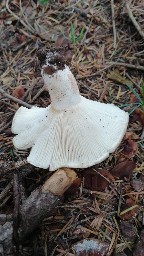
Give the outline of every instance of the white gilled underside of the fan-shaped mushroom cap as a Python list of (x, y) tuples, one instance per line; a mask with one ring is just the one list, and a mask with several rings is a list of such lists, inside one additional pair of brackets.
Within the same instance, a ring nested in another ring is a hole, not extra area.
[(105, 160), (120, 144), (128, 114), (112, 104), (81, 97), (66, 111), (20, 107), (12, 132), (18, 149), (31, 148), (30, 164), (54, 171), (60, 167), (86, 168)]

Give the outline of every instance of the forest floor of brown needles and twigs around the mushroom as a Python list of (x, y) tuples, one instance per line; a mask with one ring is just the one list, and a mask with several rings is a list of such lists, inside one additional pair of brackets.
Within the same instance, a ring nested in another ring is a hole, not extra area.
[[(13, 147), (11, 124), (21, 105), (50, 104), (37, 49), (68, 46), (81, 95), (115, 104), (129, 112), (130, 121), (109, 158), (75, 170), (78, 179), (65, 192), (63, 203), (20, 246), (18, 255), (143, 256), (143, 1), (127, 1), (127, 5), (122, 0), (44, 2), (0, 3), (0, 224), (13, 220), (14, 173), (26, 196), (51, 175), (26, 163), (29, 150)], [(99, 252), (92, 248), (74, 252), (76, 243), (93, 238)]]

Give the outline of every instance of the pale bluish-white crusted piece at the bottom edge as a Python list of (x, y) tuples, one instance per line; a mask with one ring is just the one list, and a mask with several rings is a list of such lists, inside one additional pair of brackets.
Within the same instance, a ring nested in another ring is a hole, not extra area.
[(73, 245), (72, 248), (77, 256), (105, 256), (109, 244), (97, 239), (84, 239)]

